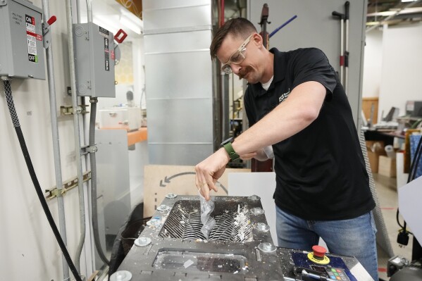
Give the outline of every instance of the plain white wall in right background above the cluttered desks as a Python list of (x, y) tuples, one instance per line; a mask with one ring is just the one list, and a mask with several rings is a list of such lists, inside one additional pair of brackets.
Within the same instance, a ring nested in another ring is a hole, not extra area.
[(363, 96), (379, 96), (381, 116), (406, 101), (422, 100), (422, 24), (385, 26), (366, 34)]

